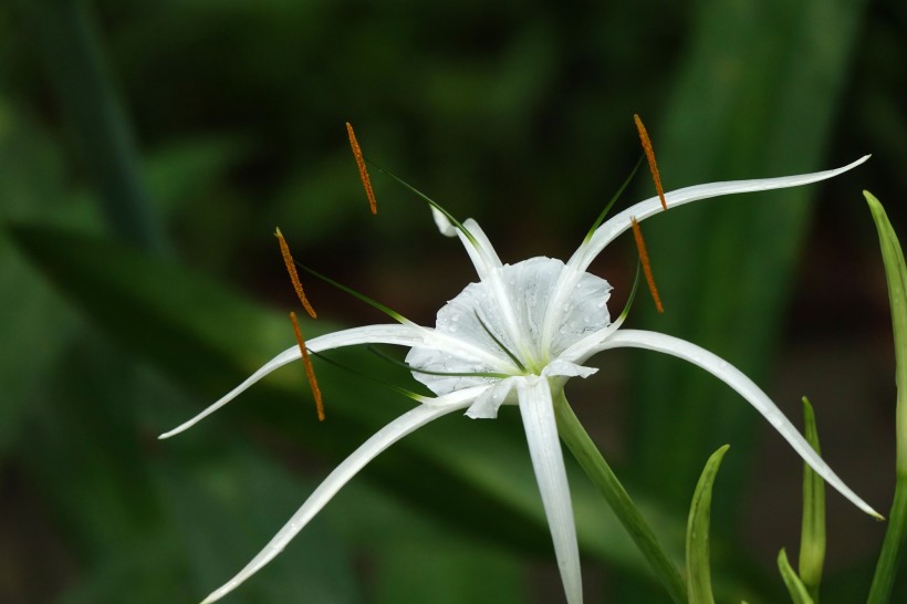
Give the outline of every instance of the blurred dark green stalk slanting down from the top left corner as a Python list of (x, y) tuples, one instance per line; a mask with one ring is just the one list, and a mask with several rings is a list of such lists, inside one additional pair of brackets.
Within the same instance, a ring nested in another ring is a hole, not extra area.
[(133, 244), (163, 251), (139, 177), (138, 154), (105, 69), (97, 31), (83, 0), (21, 0), (44, 55), (79, 158), (113, 231)]

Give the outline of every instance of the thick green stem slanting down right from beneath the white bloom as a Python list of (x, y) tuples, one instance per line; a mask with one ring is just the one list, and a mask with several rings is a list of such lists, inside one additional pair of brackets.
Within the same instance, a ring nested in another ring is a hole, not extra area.
[(665, 553), (651, 528), (636, 508), (624, 486), (602, 457), (583, 425), (576, 418), (563, 392), (554, 398), (557, 431), (573, 457), (605, 497), (617, 519), (629, 533), (658, 580), (677, 604), (687, 603), (687, 585), (677, 566)]

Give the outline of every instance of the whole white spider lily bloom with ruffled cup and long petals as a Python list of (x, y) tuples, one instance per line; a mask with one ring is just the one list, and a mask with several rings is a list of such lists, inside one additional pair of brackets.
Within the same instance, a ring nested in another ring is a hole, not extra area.
[[(868, 156), (867, 156), (868, 157)], [(867, 159), (835, 170), (801, 176), (697, 185), (666, 194), (667, 207), (720, 195), (795, 187), (837, 176)], [(736, 389), (790, 442), (825, 481), (861, 510), (878, 514), (832, 471), (772, 400), (747, 376), (697, 345), (669, 335), (618, 330), (623, 315), (612, 322), (607, 310), (611, 285), (586, 272), (593, 259), (616, 236), (663, 210), (658, 197), (618, 214), (590, 232), (566, 262), (531, 258), (504, 264), (475, 220), (462, 225), (432, 206), (440, 231), (459, 237), (479, 277), (448, 302), (435, 327), (424, 327), (389, 313), (398, 324), (353, 327), (314, 337), (312, 353), (356, 344), (396, 344), (410, 348), (406, 363), (413, 376), (435, 397), (405, 413), (365, 441), (337, 466), (264, 549), (222, 587), (205, 601), (213, 602), (246, 581), (278, 553), (366, 464), (384, 449), (444, 415), (466, 409), (472, 418), (493, 418), (501, 405), (517, 405), (555, 556), (571, 604), (583, 600), (580, 554), (570, 489), (554, 415), (571, 377), (588, 377), (595, 368), (583, 366), (592, 355), (616, 347), (648, 348), (678, 356), (702, 367)], [(222, 407), (272, 371), (301, 357), (292, 346), (252, 374), (197, 417), (161, 435), (173, 436)]]

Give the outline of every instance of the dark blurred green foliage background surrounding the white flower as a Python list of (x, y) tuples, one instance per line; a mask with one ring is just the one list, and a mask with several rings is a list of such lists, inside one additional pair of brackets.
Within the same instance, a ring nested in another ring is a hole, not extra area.
[[(825, 458), (884, 512), (894, 358), (861, 190), (905, 232), (905, 30), (895, 0), (0, 4), (0, 602), (197, 601), (410, 405), (315, 360), (323, 424), (291, 366), (155, 439), (293, 343), (274, 226), (299, 260), (419, 323), (475, 279), (380, 174), (371, 215), (347, 121), (366, 156), (479, 220), (504, 262), (572, 253), (640, 155), (634, 113), (667, 189), (874, 154), (819, 186), (646, 221), (667, 312), (640, 295), (629, 324), (727, 358), (796, 425), (809, 395)], [(643, 173), (618, 207), (653, 194)], [(615, 285), (613, 316), (635, 254), (625, 236), (592, 267)], [(307, 335), (385, 321), (309, 281)], [(366, 351), (336, 357), (415, 388)], [(594, 364), (567, 396), (678, 554), (702, 465), (731, 444), (712, 503), (718, 597), (782, 601), (799, 458), (687, 364)], [(587, 601), (667, 601), (573, 470)], [(864, 597), (883, 532), (830, 493), (823, 602)], [(562, 597), (510, 408), (387, 451), (227, 601)]]

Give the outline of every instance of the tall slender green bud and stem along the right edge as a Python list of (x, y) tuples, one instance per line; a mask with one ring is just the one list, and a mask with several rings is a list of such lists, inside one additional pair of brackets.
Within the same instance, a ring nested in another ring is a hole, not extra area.
[(897, 454), (895, 498), (888, 518), (888, 530), (876, 564), (868, 604), (884, 604), (890, 600), (898, 567), (898, 556), (907, 537), (907, 264), (895, 229), (885, 208), (869, 191), (863, 191), (878, 231), (885, 277), (888, 281), (888, 302), (892, 305), (892, 329), (895, 337), (895, 382), (897, 407), (895, 435)]

